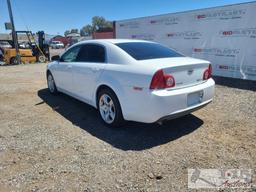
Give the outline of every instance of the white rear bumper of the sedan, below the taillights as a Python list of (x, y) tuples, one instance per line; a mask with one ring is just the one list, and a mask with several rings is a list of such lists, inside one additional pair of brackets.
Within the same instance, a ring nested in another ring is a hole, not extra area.
[[(153, 123), (184, 116), (209, 104), (214, 96), (214, 86), (213, 79), (209, 79), (202, 84), (177, 90), (130, 89), (127, 91), (126, 101), (121, 101), (124, 119)], [(189, 95), (199, 92), (202, 93), (200, 101), (188, 104)]]

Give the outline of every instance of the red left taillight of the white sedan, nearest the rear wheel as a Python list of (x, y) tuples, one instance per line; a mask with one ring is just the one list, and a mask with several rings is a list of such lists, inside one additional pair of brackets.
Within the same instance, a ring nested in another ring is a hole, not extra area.
[(175, 79), (172, 75), (164, 74), (164, 71), (158, 70), (150, 84), (150, 89), (165, 89), (175, 86)]

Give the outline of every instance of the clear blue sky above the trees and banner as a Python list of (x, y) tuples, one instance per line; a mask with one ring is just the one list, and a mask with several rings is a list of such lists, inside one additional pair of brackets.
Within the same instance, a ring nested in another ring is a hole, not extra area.
[[(249, 2), (248, 0), (11, 0), (16, 30), (63, 35), (91, 24), (93, 16), (110, 21)], [(7, 1), (0, 0), (0, 33), (9, 33)]]

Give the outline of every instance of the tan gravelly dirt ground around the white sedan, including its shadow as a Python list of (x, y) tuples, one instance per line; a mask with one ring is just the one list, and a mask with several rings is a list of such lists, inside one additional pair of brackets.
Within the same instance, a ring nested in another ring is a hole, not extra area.
[(188, 191), (188, 168), (255, 176), (255, 91), (217, 85), (191, 115), (111, 129), (94, 108), (49, 94), (45, 69), (0, 67), (0, 191)]

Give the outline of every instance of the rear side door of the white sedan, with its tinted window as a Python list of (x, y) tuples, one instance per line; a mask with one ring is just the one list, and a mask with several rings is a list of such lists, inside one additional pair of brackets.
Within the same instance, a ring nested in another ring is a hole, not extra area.
[(91, 103), (93, 92), (106, 65), (105, 47), (99, 44), (82, 45), (73, 65), (75, 94)]

